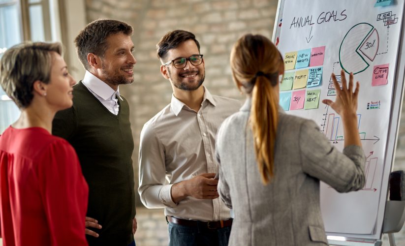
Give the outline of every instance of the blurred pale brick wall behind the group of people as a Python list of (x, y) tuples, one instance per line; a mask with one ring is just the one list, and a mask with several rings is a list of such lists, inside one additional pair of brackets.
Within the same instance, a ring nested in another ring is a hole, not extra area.
[[(156, 43), (167, 31), (184, 29), (193, 32), (204, 54), (206, 80), (213, 94), (242, 99), (235, 88), (229, 53), (233, 43), (246, 32), (271, 38), (277, 0), (86, 0), (87, 20), (111, 18), (134, 27), (135, 83), (120, 87), (130, 102), (135, 151), (135, 183), (139, 134), (142, 126), (170, 102), (170, 83), (159, 72)], [(405, 169), (405, 114), (401, 118), (395, 170)], [(140, 205), (139, 198), (137, 204)], [(161, 210), (138, 209), (138, 246), (167, 244), (167, 230)], [(156, 222), (158, 221), (158, 222)], [(163, 224), (163, 227), (161, 226)], [(404, 230), (396, 237), (405, 245)], [(384, 245), (388, 245), (385, 240)]]

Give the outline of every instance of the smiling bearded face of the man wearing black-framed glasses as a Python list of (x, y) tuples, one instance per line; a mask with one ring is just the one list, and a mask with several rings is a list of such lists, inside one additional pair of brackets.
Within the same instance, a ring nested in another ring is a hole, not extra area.
[[(177, 48), (169, 50), (162, 62), (166, 63), (178, 58), (189, 58), (199, 54), (197, 45), (192, 39), (189, 39), (181, 43)], [(200, 88), (205, 79), (204, 59), (197, 66), (187, 61), (186, 66), (181, 69), (174, 67), (173, 62), (171, 62), (168, 65), (162, 65), (160, 71), (163, 77), (170, 80), (173, 90), (195, 91)]]

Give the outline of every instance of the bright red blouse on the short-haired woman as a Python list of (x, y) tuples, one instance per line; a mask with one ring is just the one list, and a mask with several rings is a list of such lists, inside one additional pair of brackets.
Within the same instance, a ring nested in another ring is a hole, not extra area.
[(89, 188), (73, 147), (40, 127), (0, 136), (3, 246), (82, 246)]

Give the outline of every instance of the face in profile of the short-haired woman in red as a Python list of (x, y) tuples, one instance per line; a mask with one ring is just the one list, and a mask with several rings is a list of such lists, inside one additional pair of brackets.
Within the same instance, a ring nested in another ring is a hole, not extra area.
[(63, 110), (73, 105), (73, 88), (76, 81), (67, 71), (66, 63), (61, 55), (52, 52), (52, 67), (49, 83), (46, 84), (46, 101), (55, 108)]

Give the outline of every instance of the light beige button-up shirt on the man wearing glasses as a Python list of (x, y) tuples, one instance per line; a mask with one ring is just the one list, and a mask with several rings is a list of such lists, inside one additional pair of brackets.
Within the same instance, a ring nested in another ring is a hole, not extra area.
[(204, 89), (198, 112), (173, 95), (171, 103), (145, 123), (139, 148), (138, 192), (147, 208), (165, 208), (165, 215), (216, 221), (230, 217), (219, 198), (189, 196), (176, 204), (170, 193), (173, 184), (218, 172), (214, 149), (218, 127), (241, 106), (238, 100), (211, 95)]

